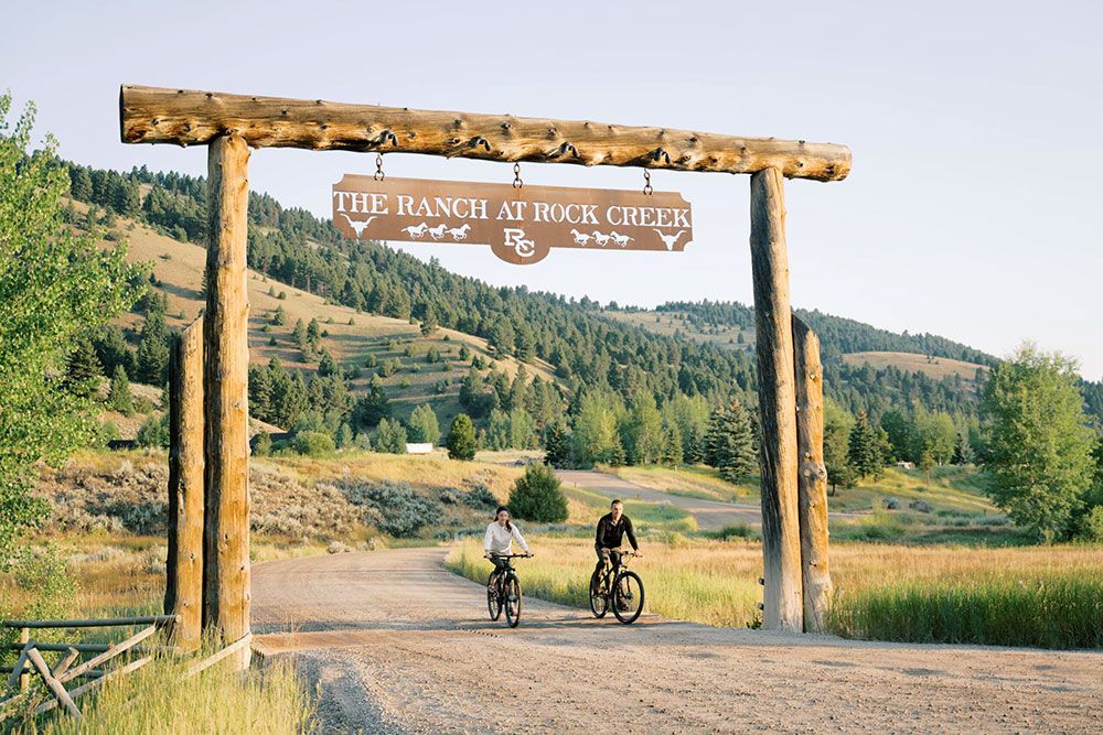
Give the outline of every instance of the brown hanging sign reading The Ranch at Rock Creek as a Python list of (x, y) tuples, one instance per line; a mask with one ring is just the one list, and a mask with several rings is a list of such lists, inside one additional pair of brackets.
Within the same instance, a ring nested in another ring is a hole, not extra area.
[(676, 192), (478, 184), (345, 174), (333, 185), (333, 224), (349, 238), (489, 245), (527, 264), (552, 248), (682, 251), (689, 204)]

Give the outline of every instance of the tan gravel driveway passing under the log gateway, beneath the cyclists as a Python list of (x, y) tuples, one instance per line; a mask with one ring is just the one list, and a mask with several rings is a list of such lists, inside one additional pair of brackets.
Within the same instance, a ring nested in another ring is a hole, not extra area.
[(258, 646), (298, 651), (328, 732), (1099, 732), (1103, 716), (1103, 653), (625, 627), (528, 597), (510, 630), (446, 553), (254, 568)]

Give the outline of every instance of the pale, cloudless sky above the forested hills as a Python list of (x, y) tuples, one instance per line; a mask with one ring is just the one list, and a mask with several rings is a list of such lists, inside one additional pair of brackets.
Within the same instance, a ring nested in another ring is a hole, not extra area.
[[(850, 176), (786, 186), (792, 296), (1103, 378), (1103, 3), (19, 2), (0, 89), (96, 166), (203, 175), (203, 150), (119, 142), (144, 84), (846, 143)], [(393, 176), (508, 182), (508, 164), (389, 154)], [(374, 154), (256, 151), (254, 188), (330, 216)], [(523, 164), (526, 183), (639, 188), (641, 171)], [(658, 171), (694, 207), (684, 253), (401, 246), (494, 284), (653, 306), (751, 302), (747, 176)]]

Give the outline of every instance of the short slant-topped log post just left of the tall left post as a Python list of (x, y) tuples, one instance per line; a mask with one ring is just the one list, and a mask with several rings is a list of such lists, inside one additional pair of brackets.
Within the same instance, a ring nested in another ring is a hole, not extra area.
[(185, 651), (203, 637), (203, 317), (173, 338), (169, 359), (169, 564), (164, 613)]

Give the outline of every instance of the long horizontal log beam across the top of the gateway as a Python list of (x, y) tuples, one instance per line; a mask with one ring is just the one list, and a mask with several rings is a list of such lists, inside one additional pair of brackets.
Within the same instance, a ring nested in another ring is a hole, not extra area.
[(137, 85), (119, 93), (119, 122), (125, 143), (202, 145), (228, 134), (253, 148), (720, 173), (778, 169), (816, 181), (840, 181), (850, 172), (850, 149), (835, 143)]

